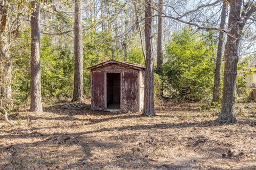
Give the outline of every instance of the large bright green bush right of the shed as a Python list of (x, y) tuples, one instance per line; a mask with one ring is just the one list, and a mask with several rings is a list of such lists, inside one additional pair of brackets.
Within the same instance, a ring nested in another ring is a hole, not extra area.
[(173, 33), (165, 50), (163, 74), (172, 98), (209, 99), (214, 79), (215, 40), (209, 32), (190, 28)]

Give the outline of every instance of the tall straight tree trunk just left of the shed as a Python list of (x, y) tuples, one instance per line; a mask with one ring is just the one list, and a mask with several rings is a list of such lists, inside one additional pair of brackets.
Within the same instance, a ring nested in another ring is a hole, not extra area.
[(75, 74), (73, 101), (83, 102), (83, 25), (82, 25), (82, 0), (75, 0)]

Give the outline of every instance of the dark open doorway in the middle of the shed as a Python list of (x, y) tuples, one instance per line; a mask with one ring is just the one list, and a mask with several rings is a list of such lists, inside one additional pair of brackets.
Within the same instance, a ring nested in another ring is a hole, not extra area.
[(121, 73), (107, 73), (107, 109), (120, 109)]

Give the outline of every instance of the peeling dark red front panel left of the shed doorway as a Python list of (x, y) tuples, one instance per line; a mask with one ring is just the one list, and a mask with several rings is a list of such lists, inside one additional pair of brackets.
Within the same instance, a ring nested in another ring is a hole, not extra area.
[(105, 108), (105, 73), (92, 72), (92, 109), (104, 111)]

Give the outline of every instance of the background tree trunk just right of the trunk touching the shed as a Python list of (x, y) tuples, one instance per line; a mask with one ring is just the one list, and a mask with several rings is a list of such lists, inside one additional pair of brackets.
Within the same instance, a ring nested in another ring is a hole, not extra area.
[(158, 0), (158, 25), (157, 25), (157, 60), (156, 69), (161, 71), (163, 64), (163, 39), (164, 39), (164, 18), (162, 13), (164, 12), (163, 0)]

